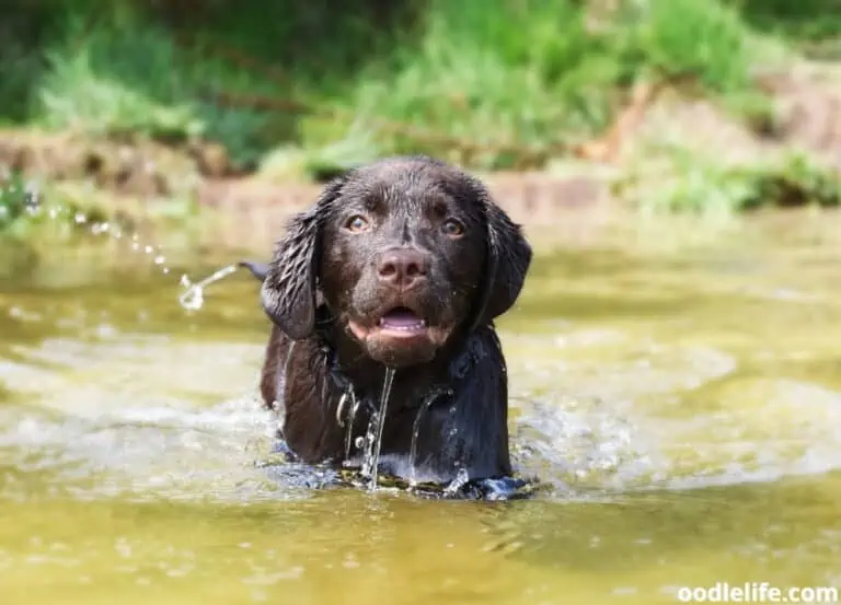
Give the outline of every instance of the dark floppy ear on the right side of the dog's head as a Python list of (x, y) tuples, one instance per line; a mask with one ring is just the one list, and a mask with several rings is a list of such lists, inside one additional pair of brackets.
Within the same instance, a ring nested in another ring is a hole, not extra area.
[(521, 226), (512, 222), (484, 190), (481, 202), (487, 230), (487, 257), (473, 328), (489, 324), (514, 305), (532, 256)]

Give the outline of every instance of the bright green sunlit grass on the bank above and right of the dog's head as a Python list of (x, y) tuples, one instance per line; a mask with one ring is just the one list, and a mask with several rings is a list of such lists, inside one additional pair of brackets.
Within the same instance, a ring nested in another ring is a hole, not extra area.
[[(691, 74), (716, 94), (751, 95), (750, 67), (769, 46), (735, 10), (699, 0), (652, 0), (610, 15), (600, 32), (573, 0), (439, 0), (425, 25), (416, 47), (369, 66), (337, 100), (344, 119), (304, 117), (306, 139), (324, 143), (339, 126), (356, 127), (376, 133), (380, 153), (424, 151), (491, 168), (540, 162), (601, 132), (640, 78)], [(477, 146), (401, 136), (384, 120)]]

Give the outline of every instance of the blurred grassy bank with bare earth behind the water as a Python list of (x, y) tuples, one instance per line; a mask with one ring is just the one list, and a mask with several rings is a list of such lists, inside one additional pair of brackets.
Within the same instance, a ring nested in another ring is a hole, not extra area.
[(170, 213), (415, 152), (654, 211), (839, 202), (839, 0), (10, 0), (0, 36), (7, 181)]

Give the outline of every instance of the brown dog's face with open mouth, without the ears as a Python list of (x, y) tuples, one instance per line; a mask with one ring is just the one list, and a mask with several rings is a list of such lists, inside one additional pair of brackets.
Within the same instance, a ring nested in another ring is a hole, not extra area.
[(454, 173), (361, 168), (342, 187), (322, 237), (324, 298), (370, 358), (395, 368), (429, 361), (470, 315), (485, 225)]

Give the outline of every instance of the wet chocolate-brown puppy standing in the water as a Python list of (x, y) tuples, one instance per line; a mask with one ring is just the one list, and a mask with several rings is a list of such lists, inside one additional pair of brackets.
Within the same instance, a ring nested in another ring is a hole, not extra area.
[(393, 369), (381, 473), (443, 486), (510, 477), (494, 319), (531, 258), (521, 225), (445, 162), (391, 158), (327, 183), (268, 265), (243, 263), (273, 323), (261, 394), (291, 453), (358, 463)]

